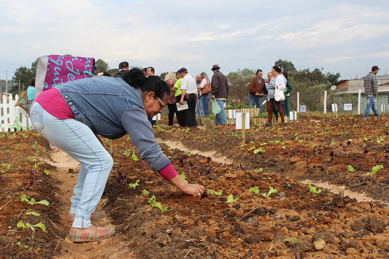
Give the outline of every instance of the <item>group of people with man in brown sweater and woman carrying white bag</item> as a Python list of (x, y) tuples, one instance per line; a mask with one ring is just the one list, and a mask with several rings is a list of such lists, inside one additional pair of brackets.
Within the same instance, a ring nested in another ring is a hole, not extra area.
[[(268, 80), (265, 81), (263, 78), (263, 71), (258, 69), (256, 76), (253, 77), (249, 84), (249, 106), (256, 106), (259, 108), (259, 113), (263, 112), (263, 101), (262, 97), (267, 94), (267, 105), (268, 105), (268, 121), (265, 126), (272, 125), (273, 112), (279, 113), (281, 122), (285, 123), (284, 114), (289, 119), (289, 98), (290, 92), (293, 87), (288, 80), (288, 74), (280, 66), (273, 66), (272, 72), (267, 74)], [(280, 89), (284, 93), (285, 100), (276, 101), (274, 98), (275, 89)]]

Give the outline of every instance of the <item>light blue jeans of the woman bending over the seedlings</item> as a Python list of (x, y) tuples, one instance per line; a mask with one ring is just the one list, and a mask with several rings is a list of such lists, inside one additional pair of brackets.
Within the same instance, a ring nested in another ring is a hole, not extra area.
[(37, 102), (31, 107), (31, 121), (40, 135), (81, 163), (70, 213), (75, 214), (74, 228), (88, 228), (114, 165), (112, 157), (85, 124), (57, 119)]

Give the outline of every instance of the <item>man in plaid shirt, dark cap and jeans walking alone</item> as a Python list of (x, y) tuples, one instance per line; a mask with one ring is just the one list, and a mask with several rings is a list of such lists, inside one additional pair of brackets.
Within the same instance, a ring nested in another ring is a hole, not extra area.
[(371, 110), (373, 110), (374, 116), (380, 116), (377, 112), (377, 109), (375, 108), (375, 98), (377, 98), (378, 95), (378, 78), (376, 75), (379, 69), (380, 68), (378, 68), (378, 66), (373, 66), (371, 68), (371, 72), (364, 77), (364, 94), (367, 97), (364, 119), (367, 119), (369, 117), (370, 108)]

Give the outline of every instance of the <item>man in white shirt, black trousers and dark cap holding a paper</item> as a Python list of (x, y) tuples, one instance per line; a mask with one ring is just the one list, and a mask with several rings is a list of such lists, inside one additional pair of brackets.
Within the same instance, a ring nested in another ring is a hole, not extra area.
[[(177, 71), (182, 77), (181, 81), (181, 99), (180, 104), (184, 105), (186, 101), (188, 108), (184, 110), (184, 117), (187, 127), (197, 127), (196, 121), (196, 80), (188, 73), (186, 68)], [(178, 99), (177, 99), (178, 100)]]

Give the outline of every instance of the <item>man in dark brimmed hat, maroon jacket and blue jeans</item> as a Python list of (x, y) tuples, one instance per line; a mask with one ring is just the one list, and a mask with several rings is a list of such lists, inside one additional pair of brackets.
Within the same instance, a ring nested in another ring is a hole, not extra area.
[(226, 113), (224, 112), (224, 103), (228, 96), (228, 82), (227, 77), (219, 71), (220, 67), (218, 65), (212, 66), (212, 100), (216, 99), (217, 103), (221, 108), (221, 112), (216, 114), (215, 123), (218, 125), (227, 124)]

